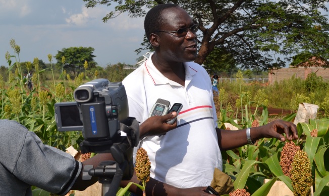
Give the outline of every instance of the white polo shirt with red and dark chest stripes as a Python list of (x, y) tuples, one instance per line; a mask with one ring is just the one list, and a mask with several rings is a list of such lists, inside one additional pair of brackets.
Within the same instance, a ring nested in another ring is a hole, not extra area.
[(183, 104), (176, 129), (141, 141), (151, 161), (150, 176), (175, 187), (207, 186), (214, 168), (222, 170), (209, 75), (199, 64), (185, 66), (185, 87), (163, 76), (149, 59), (124, 80), (129, 116), (144, 122), (157, 99)]

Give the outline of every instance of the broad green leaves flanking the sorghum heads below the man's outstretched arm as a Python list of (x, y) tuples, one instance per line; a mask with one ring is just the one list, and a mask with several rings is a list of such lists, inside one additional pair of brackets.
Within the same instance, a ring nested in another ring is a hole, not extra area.
[[(308, 155), (312, 166), (314, 195), (323, 195), (328, 190), (329, 119), (310, 120), (297, 125), (300, 139), (294, 141)], [(317, 136), (310, 132), (317, 130)], [(234, 180), (235, 188), (245, 188), (252, 195), (266, 195), (276, 180), (283, 181), (292, 191), (292, 180), (283, 174), (280, 152), (283, 143), (275, 138), (261, 139), (256, 145), (246, 145), (223, 153), (223, 171)], [(264, 183), (264, 178), (271, 179)]]

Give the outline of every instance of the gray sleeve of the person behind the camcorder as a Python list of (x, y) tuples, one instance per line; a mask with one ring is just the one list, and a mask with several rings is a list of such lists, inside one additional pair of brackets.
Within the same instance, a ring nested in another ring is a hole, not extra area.
[[(13, 158), (16, 160), (10, 161), (14, 164), (5, 166), (27, 184), (52, 193), (66, 194), (81, 172), (81, 162), (62, 150), (44, 145), (35, 133), (28, 131), (24, 126), (12, 121), (9, 124), (11, 126), (7, 131), (14, 132), (12, 136), (17, 134), (19, 144), (13, 152), (17, 153)], [(6, 142), (15, 144), (16, 138), (8, 138)], [(7, 151), (9, 152), (11, 149)]]

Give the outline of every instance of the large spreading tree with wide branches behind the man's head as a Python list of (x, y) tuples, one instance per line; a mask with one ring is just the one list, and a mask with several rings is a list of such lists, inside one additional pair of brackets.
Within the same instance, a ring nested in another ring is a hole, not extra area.
[[(130, 17), (143, 17), (156, 4), (178, 4), (199, 24), (199, 51), (195, 60), (199, 64), (215, 47), (234, 55), (241, 68), (258, 70), (284, 67), (286, 61), (301, 51), (329, 59), (329, 25), (320, 13), (327, 11), (328, 0), (83, 1), (87, 2), (87, 8), (118, 4), (103, 22), (123, 12)], [(142, 46), (136, 51), (150, 48), (145, 43)], [(328, 65), (326, 61), (323, 66)]]

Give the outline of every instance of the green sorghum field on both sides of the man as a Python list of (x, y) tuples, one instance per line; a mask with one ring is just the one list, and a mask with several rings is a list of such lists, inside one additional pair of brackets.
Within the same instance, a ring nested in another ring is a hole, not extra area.
[[(50, 61), (51, 62), (51, 61)], [(65, 151), (69, 146), (79, 149), (83, 140), (81, 132), (58, 132), (54, 119), (54, 104), (74, 101), (74, 89), (90, 80), (86, 72), (81, 72), (71, 80), (64, 70), (55, 78), (53, 70), (39, 70), (33, 62), (33, 88), (29, 90), (23, 80), (20, 63), (11, 64), (7, 80), (0, 75), (0, 119), (11, 119), (35, 132), (47, 145)], [(11, 71), (13, 70), (13, 71)], [(87, 66), (86, 66), (87, 70)], [(42, 82), (40, 77), (47, 72), (52, 80)], [(93, 77), (96, 78), (96, 74)], [(314, 76), (313, 76), (314, 77)], [(272, 119), (267, 107), (291, 110), (291, 114), (281, 116), (293, 121), (299, 103), (319, 105), (318, 117), (297, 125), (299, 139), (293, 143), (283, 143), (277, 139), (261, 139), (255, 145), (245, 145), (235, 150), (222, 152), (224, 172), (231, 176), (235, 189), (245, 189), (251, 195), (266, 195), (275, 182), (282, 181), (295, 195), (309, 195), (310, 187), (314, 195), (329, 194), (329, 93), (327, 84), (307, 88), (297, 78), (272, 86), (243, 83), (239, 71), (234, 83), (220, 83), (220, 95), (214, 97), (218, 125), (227, 129), (227, 124), (243, 129), (267, 124)], [(316, 76), (315, 76), (315, 79)], [(321, 83), (322, 84), (322, 83)], [(258, 87), (257, 87), (258, 86)], [(289, 86), (289, 87), (288, 87)], [(287, 91), (283, 91), (283, 90)], [(295, 90), (295, 91), (294, 91)], [(299, 93), (297, 93), (299, 92)], [(287, 94), (289, 101), (285, 99)], [(261, 113), (259, 112), (261, 108)], [(252, 109), (252, 110), (251, 110)], [(297, 149), (297, 150), (296, 150)], [(292, 157), (298, 158), (292, 158)], [(288, 158), (287, 158), (288, 157)], [(290, 158), (289, 158), (290, 157)], [(290, 162), (289, 162), (290, 161)], [(291, 168), (287, 168), (291, 165)], [(296, 166), (294, 166), (296, 165)], [(299, 167), (303, 165), (303, 170)], [(264, 183), (265, 179), (269, 179)], [(303, 181), (300, 181), (304, 179)], [(306, 193), (306, 194), (304, 194)]]

